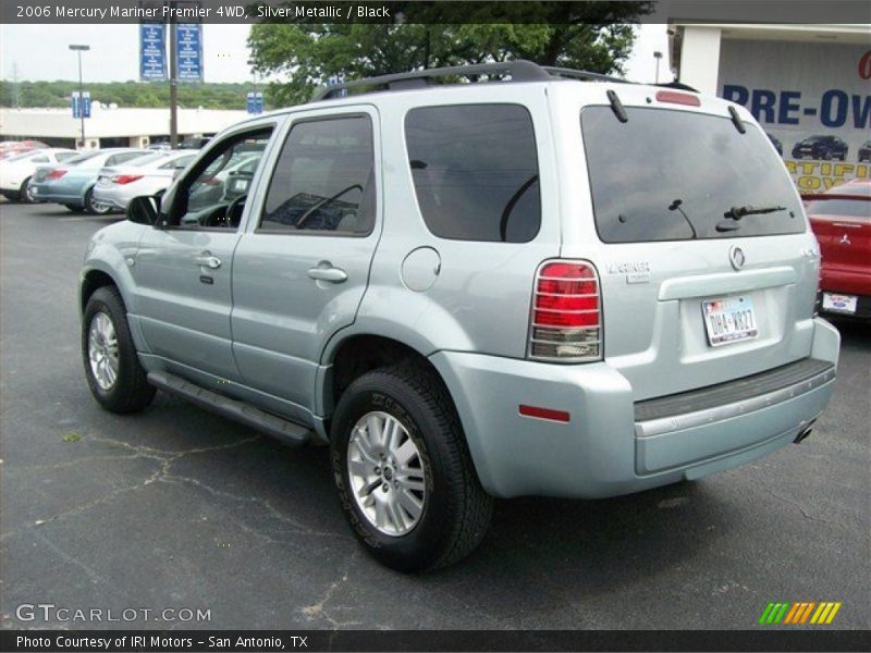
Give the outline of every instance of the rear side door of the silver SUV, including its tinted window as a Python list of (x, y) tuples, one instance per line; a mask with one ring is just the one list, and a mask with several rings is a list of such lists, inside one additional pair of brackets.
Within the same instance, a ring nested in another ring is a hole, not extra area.
[(292, 114), (233, 259), (242, 377), (305, 411), (314, 410), (321, 352), (354, 321), (368, 283), (380, 231), (379, 143), (369, 106)]

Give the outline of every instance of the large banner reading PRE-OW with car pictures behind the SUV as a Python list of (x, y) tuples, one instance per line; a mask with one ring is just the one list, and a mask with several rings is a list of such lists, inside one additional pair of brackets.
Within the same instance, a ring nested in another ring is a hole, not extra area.
[(871, 49), (867, 45), (724, 38), (723, 98), (768, 133), (801, 193), (871, 176)]

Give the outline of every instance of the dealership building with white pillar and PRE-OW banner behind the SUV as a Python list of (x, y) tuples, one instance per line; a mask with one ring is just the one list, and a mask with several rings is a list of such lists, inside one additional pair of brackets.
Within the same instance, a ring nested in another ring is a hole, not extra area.
[(801, 192), (871, 176), (871, 25), (670, 20), (677, 81), (746, 107)]

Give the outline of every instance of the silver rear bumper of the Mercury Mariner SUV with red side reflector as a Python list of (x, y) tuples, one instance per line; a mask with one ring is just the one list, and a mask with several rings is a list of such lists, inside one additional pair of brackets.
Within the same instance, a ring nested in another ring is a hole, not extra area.
[[(431, 360), (488, 492), (592, 498), (700, 478), (794, 442), (832, 396), (838, 343), (837, 331), (817, 319), (805, 361), (637, 404), (628, 380), (604, 362), (455, 352)], [(569, 421), (520, 416), (520, 404), (566, 411)]]

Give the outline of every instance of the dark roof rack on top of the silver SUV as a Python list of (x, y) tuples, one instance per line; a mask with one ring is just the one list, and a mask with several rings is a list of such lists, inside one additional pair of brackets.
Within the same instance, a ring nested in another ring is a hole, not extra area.
[(408, 88), (420, 88), (429, 84), (430, 79), (437, 77), (475, 77), (479, 75), (510, 75), (511, 82), (547, 82), (554, 77), (571, 77), (587, 82), (618, 82), (628, 84), (625, 79), (610, 77), (601, 73), (589, 71), (576, 71), (574, 69), (542, 66), (525, 59), (514, 61), (501, 61), (496, 63), (478, 63), (474, 65), (453, 65), (447, 67), (426, 69), (413, 71), (410, 73), (396, 73), (392, 75), (379, 75), (377, 77), (366, 77), (365, 79), (354, 79), (331, 86), (320, 86), (311, 96), (310, 102), (328, 100), (335, 97), (343, 90), (349, 88), (369, 87), (364, 93), (378, 90), (404, 90)]

